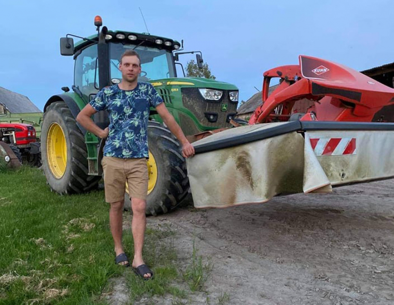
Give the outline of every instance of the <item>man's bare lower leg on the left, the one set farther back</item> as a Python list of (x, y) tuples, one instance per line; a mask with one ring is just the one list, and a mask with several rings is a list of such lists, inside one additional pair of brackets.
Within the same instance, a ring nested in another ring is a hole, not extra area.
[[(109, 225), (111, 228), (112, 237), (114, 239), (116, 256), (124, 253), (122, 245), (122, 231), (123, 231), (123, 200), (115, 203), (110, 203), (109, 208)], [(120, 262), (120, 265), (127, 265), (129, 262)]]

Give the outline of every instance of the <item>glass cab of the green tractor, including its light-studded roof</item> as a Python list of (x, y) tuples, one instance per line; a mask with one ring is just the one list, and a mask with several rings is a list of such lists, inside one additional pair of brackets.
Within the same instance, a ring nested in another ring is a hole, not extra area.
[[(135, 50), (141, 58), (139, 81), (176, 77), (172, 51), (179, 49), (180, 44), (171, 39), (124, 31), (107, 32), (105, 44), (101, 47), (106, 54), (101, 56), (98, 54), (100, 46), (97, 35), (87, 39), (78, 42), (74, 48), (73, 87), (74, 91), (80, 91), (86, 102), (100, 88), (120, 83), (119, 60), (126, 50)], [(100, 79), (103, 84), (100, 84)]]

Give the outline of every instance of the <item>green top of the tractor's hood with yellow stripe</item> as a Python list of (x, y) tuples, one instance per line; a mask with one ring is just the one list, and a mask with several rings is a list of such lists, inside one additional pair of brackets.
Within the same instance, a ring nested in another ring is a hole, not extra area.
[(151, 80), (150, 82), (154, 86), (179, 85), (179, 86), (196, 87), (196, 88), (238, 90), (238, 88), (232, 84), (220, 82), (214, 79), (203, 78), (203, 77), (172, 77), (172, 78)]

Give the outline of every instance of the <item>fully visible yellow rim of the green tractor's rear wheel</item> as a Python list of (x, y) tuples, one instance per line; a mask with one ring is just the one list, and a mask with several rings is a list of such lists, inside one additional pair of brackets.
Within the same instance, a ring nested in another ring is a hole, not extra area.
[(46, 137), (46, 153), (49, 169), (55, 178), (60, 179), (66, 172), (67, 143), (65, 133), (58, 123), (49, 126)]

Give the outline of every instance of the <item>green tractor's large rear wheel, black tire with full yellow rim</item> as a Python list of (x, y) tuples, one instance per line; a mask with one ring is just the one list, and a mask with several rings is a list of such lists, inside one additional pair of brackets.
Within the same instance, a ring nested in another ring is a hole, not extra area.
[[(56, 150), (58, 141), (64, 144)], [(62, 147), (63, 154), (59, 153)], [(78, 194), (97, 188), (101, 176), (88, 175), (87, 158), (85, 138), (70, 109), (63, 101), (53, 102), (41, 127), (42, 168), (51, 189), (59, 194)]]

